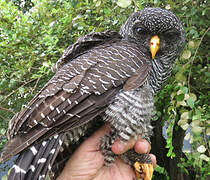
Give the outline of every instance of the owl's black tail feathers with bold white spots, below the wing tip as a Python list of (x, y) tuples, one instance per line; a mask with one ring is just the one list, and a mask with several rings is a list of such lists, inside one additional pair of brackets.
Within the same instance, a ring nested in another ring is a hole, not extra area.
[(43, 180), (60, 150), (64, 134), (55, 135), (21, 152), (8, 180)]

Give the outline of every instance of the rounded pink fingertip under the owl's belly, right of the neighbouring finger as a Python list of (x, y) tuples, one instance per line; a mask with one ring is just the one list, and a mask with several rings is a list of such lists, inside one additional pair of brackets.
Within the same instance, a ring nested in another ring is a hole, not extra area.
[(146, 139), (138, 139), (134, 145), (134, 149), (139, 154), (149, 153), (151, 145)]

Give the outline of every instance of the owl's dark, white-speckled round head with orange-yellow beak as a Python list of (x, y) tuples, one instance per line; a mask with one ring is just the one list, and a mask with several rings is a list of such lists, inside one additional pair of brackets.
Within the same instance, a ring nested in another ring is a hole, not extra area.
[(171, 11), (160, 8), (133, 13), (122, 25), (120, 34), (152, 59), (174, 60), (185, 43), (180, 20)]

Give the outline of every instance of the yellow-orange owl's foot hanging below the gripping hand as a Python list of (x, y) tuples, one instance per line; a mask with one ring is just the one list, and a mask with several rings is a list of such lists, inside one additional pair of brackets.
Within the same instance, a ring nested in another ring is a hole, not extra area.
[(154, 171), (152, 164), (142, 164), (139, 162), (135, 162), (133, 166), (135, 169), (137, 179), (141, 179), (142, 175), (144, 176), (144, 180), (152, 179), (152, 174)]

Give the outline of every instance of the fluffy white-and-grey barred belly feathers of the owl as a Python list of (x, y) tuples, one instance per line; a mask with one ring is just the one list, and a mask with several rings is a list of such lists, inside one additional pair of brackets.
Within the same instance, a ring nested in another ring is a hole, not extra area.
[(141, 135), (149, 138), (154, 107), (153, 94), (148, 85), (137, 90), (120, 91), (105, 111), (105, 120), (123, 140)]

